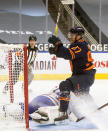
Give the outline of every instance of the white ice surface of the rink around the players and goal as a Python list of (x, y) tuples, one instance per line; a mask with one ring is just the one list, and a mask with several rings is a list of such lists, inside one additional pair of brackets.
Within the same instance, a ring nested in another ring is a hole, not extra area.
[[(54, 86), (59, 85), (60, 81), (33, 81), (29, 87), (29, 101), (31, 101), (35, 96), (40, 95), (40, 94), (45, 94), (48, 93)], [(2, 92), (3, 86), (5, 83), (0, 82), (0, 94)], [(21, 83), (19, 83), (21, 85)], [(17, 85), (15, 87), (15, 90), (20, 90), (17, 88)], [(96, 80), (94, 85), (91, 87), (90, 91), (91, 95), (93, 96), (95, 102), (97, 103), (98, 106), (108, 102), (108, 80)], [(8, 99), (7, 96), (1, 95), (1, 102), (4, 103), (4, 99)], [(17, 99), (17, 97), (15, 98)], [(106, 117), (108, 115), (108, 108), (105, 110), (105, 115), (98, 115), (96, 116), (98, 119), (102, 118), (103, 124), (107, 123)], [(108, 117), (107, 117), (108, 118)], [(37, 131), (37, 130), (98, 130), (97, 126), (89, 121), (89, 120), (82, 120), (79, 123), (71, 122), (69, 125), (60, 125), (60, 126), (55, 126), (55, 125), (50, 125), (50, 126), (40, 126), (37, 125), (35, 122), (30, 121), (30, 130), (29, 131)], [(101, 131), (102, 129), (99, 129)], [(15, 124), (15, 122), (0, 122), (0, 131), (26, 131), (26, 129), (22, 126), (21, 128)]]

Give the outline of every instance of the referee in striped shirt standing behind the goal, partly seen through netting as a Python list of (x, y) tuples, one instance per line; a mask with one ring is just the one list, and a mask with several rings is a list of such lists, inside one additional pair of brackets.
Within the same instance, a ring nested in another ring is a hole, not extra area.
[[(29, 37), (29, 44), (27, 46), (27, 64), (28, 64), (28, 85), (32, 82), (34, 75), (32, 72), (33, 64), (37, 55), (37, 47), (36, 45), (37, 38), (34, 35), (31, 35)], [(18, 81), (20, 72), (22, 70), (22, 64), (23, 64), (23, 50), (22, 49), (15, 49), (15, 62), (13, 65), (13, 85), (16, 84)], [(6, 93), (8, 91), (9, 82), (6, 83), (3, 93)]]

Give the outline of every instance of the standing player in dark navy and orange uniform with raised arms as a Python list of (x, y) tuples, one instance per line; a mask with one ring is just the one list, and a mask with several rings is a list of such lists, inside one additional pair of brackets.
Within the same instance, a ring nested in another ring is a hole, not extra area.
[(94, 83), (95, 79), (96, 70), (94, 69), (90, 47), (83, 40), (84, 29), (82, 27), (75, 27), (70, 29), (69, 33), (71, 41), (69, 48), (65, 48), (61, 40), (54, 35), (48, 39), (48, 42), (54, 45), (54, 47), (49, 48), (49, 53), (70, 60), (72, 67), (72, 76), (59, 84), (61, 92), (60, 116), (55, 119), (55, 122), (62, 122), (68, 119), (67, 109), (70, 101), (70, 92), (72, 91), (76, 97), (82, 96), (83, 98), (85, 96), (84, 99), (90, 98), (90, 86)]

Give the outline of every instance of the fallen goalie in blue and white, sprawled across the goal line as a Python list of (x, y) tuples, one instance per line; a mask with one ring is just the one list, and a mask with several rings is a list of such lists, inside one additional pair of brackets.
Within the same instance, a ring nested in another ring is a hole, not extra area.
[[(49, 93), (42, 94), (33, 98), (33, 100), (29, 103), (28, 106), (29, 119), (31, 120), (33, 118), (38, 123), (45, 121), (48, 118), (48, 115), (46, 115), (45, 107), (59, 106), (59, 96), (60, 96), (60, 90), (56, 86)], [(43, 107), (43, 111), (40, 111), (39, 109), (42, 107)], [(10, 117), (15, 118), (16, 120), (21, 118), (20, 115), (22, 116), (22, 118), (24, 115), (24, 103), (22, 102), (10, 104), (10, 105), (9, 104), (3, 105), (2, 108), (0, 107), (0, 109), (1, 109), (0, 111), (3, 112), (0, 113), (0, 115), (1, 114), (5, 114), (5, 116), (10, 115)]]

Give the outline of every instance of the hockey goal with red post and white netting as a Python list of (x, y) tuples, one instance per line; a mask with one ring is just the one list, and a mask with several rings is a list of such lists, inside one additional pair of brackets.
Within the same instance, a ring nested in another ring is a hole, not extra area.
[[(29, 127), (27, 47), (0, 44), (0, 122)], [(19, 124), (20, 125), (20, 124)]]

